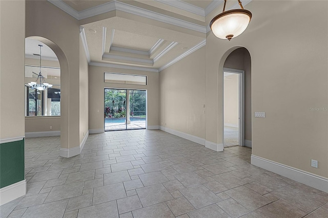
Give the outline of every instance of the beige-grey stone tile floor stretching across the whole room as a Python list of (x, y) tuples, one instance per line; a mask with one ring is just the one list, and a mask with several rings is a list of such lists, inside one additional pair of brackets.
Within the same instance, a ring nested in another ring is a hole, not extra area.
[(59, 137), (26, 139), (27, 194), (1, 217), (328, 217), (328, 193), (161, 130), (90, 135), (59, 157)]

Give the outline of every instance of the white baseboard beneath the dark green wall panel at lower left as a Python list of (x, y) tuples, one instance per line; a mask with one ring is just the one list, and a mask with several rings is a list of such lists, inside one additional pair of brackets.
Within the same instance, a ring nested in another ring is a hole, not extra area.
[(26, 180), (16, 182), (0, 189), (0, 205), (22, 197), (26, 194)]

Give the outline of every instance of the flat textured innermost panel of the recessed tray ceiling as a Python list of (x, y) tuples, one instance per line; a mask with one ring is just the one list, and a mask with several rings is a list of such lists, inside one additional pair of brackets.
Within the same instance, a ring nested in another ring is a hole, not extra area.
[(148, 52), (158, 39), (159, 38), (115, 30), (112, 46)]

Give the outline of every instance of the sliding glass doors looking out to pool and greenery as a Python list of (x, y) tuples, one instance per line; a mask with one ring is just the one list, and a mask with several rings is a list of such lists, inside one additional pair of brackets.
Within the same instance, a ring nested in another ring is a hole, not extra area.
[(145, 129), (147, 91), (105, 89), (105, 131)]

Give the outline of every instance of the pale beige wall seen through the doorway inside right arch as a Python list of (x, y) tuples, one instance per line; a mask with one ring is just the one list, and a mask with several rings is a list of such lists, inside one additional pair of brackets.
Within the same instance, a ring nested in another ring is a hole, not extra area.
[(224, 125), (239, 127), (239, 75), (224, 79)]

